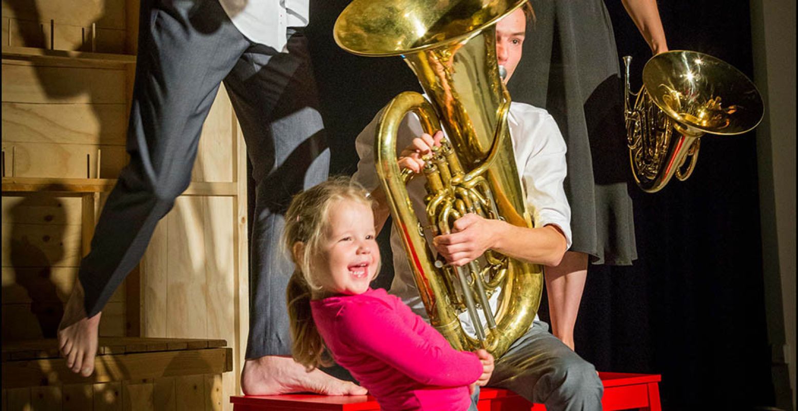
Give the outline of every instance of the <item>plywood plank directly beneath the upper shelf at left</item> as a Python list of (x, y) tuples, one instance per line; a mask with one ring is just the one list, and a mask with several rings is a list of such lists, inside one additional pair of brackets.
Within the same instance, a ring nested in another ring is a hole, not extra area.
[(2, 101), (125, 104), (124, 70), (2, 64)]

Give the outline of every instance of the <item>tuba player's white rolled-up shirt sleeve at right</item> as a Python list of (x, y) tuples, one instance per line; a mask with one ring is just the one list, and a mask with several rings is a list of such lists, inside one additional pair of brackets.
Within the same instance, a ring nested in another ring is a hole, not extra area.
[(516, 144), (516, 150), (522, 153), (516, 158), (526, 158), (520, 174), (535, 227), (556, 225), (565, 235), (570, 249), (571, 206), (563, 188), (567, 174), (567, 149), (554, 118), (540, 111), (542, 113), (534, 114), (539, 116), (539, 121), (523, 122), (523, 127), (520, 127), (523, 135), (517, 136), (520, 144)]

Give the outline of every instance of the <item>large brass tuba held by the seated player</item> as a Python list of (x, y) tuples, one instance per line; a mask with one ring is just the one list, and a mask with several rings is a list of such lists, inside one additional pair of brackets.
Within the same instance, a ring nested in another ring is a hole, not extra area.
[[(449, 233), (465, 213), (532, 226), (507, 126), (510, 97), (496, 62), (495, 23), (525, 1), (354, 0), (334, 27), (336, 42), (350, 53), (401, 55), (429, 97), (405, 92), (381, 112), (377, 174), (431, 324), (455, 349), (484, 348), (496, 356), (531, 325), (543, 290), (543, 268), (489, 250), (455, 269), (436, 259), (426, 238)], [(409, 112), (417, 114), (425, 132), (445, 130), (448, 138), (427, 158), (429, 224), (424, 227), (407, 191), (412, 176), (397, 166), (397, 127)], [(494, 293), (500, 293), (496, 313), (488, 304)], [(475, 335), (460, 325), (458, 315), (464, 311), (476, 326)]]

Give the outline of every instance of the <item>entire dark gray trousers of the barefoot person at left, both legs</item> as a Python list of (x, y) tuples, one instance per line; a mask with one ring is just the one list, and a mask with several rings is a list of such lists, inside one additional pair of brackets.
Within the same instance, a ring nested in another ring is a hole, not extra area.
[[(306, 38), (287, 52), (250, 42), (217, 0), (143, 0), (128, 125), (130, 163), (97, 221), (79, 278), (89, 316), (138, 264), (161, 217), (191, 182), (199, 134), (224, 82), (255, 178), (247, 358), (290, 354), (279, 247), (290, 197), (326, 179), (330, 154)], [(250, 193), (250, 195), (252, 195)]]

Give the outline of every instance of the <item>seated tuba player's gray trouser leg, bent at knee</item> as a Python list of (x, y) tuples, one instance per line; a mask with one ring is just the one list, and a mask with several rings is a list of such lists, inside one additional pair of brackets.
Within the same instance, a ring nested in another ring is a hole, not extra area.
[(509, 389), (551, 411), (599, 410), (604, 392), (593, 365), (541, 321), (496, 361), (488, 386)]

